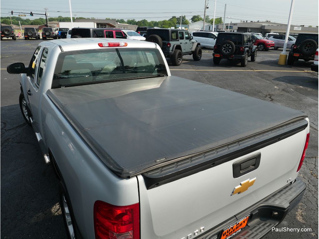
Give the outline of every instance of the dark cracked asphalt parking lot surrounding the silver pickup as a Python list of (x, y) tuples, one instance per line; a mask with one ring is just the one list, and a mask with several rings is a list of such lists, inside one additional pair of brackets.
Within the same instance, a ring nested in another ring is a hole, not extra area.
[[(1, 41), (1, 238), (67, 238), (58, 203), (58, 180), (46, 165), (31, 127), (19, 109), (19, 75), (13, 62), (29, 64), (40, 40)], [(200, 61), (184, 56), (171, 74), (304, 111), (310, 120), (310, 142), (299, 177), (307, 191), (278, 226), (311, 228), (311, 232), (270, 232), (267, 239), (318, 238), (318, 75), (312, 62), (279, 66), (282, 49), (258, 52), (256, 62), (212, 63), (212, 50)], [(177, 238), (178, 239), (178, 238)]]

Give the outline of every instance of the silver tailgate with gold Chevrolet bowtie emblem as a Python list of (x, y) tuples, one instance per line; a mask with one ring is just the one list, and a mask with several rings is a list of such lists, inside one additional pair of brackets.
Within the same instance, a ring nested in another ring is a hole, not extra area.
[[(256, 138), (261, 136), (259, 142), (263, 141), (262, 137), (272, 138), (271, 141), (268, 140), (271, 144), (268, 143), (262, 148), (257, 147), (257, 150), (234, 159), (228, 157), (228, 161), (223, 161), (223, 156), (218, 157), (218, 152), (215, 154), (207, 152), (205, 161), (210, 162), (208, 168), (193, 174), (184, 174), (173, 181), (165, 181), (167, 179), (165, 176), (170, 175), (172, 178), (176, 176), (174, 172), (178, 172), (178, 162), (174, 163), (174, 166), (167, 165), (137, 176), (141, 239), (180, 239), (188, 238), (189, 234), (194, 238), (193, 233), (197, 230), (199, 235), (202, 233), (200, 228), (204, 227), (207, 231), (287, 185), (297, 177), (296, 171), (308, 130), (307, 123), (307, 120), (300, 120), (256, 136)], [(299, 129), (291, 130), (293, 128)], [(283, 136), (285, 134), (286, 136)], [(255, 147), (258, 141), (256, 139), (239, 141), (238, 145), (245, 145), (245, 141), (249, 140), (247, 145)], [(232, 151), (228, 147), (222, 150), (222, 155), (227, 156), (227, 150)], [(258, 156), (260, 163), (256, 169), (239, 177), (234, 176), (235, 162)], [(204, 157), (205, 155), (201, 156)], [(186, 161), (190, 163), (192, 159)], [(211, 162), (218, 165), (214, 166)], [(159, 180), (156, 181), (155, 178)], [(161, 178), (164, 178), (163, 185), (160, 185), (163, 182)], [(248, 179), (255, 179), (255, 182), (247, 191), (231, 195), (236, 186)], [(157, 184), (154, 185), (154, 182)]]

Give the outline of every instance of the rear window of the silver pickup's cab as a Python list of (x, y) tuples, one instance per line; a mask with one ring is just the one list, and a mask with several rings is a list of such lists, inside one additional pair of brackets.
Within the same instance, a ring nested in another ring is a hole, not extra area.
[(158, 49), (111, 48), (60, 53), (52, 88), (167, 76)]

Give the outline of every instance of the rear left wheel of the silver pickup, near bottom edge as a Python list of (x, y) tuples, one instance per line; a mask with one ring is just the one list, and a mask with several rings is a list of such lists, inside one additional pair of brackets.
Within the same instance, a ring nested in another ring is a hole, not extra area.
[(59, 187), (60, 195), (60, 207), (62, 211), (62, 217), (66, 228), (66, 233), (69, 239), (81, 239), (81, 235), (76, 224), (72, 206), (70, 204), (70, 198), (65, 190), (63, 183), (60, 181)]

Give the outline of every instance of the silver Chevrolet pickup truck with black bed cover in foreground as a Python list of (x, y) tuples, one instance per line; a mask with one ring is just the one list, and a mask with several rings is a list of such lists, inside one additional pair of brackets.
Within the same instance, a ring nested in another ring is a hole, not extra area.
[(261, 238), (303, 196), (307, 115), (171, 76), (155, 43), (45, 41), (7, 71), (69, 238)]

